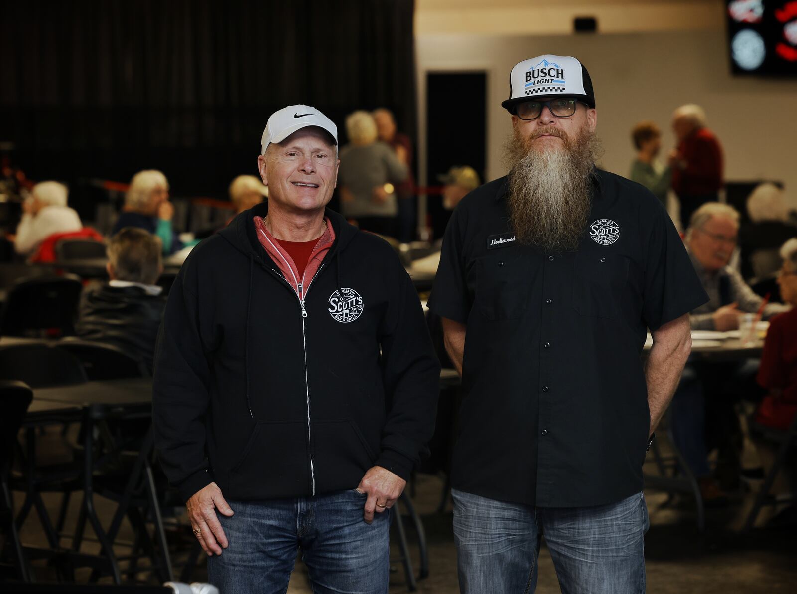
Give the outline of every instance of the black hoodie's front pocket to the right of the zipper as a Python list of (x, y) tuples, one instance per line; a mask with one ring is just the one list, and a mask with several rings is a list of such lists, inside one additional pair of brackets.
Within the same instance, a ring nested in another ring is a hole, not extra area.
[(316, 492), (356, 487), (374, 465), (373, 447), (351, 420), (312, 424), (312, 459)]

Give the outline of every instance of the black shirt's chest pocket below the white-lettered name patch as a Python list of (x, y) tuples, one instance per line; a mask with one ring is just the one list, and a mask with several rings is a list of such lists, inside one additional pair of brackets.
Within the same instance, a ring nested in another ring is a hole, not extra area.
[(528, 306), (528, 262), (514, 250), (498, 250), (478, 263), (476, 305), (489, 320), (516, 319)]

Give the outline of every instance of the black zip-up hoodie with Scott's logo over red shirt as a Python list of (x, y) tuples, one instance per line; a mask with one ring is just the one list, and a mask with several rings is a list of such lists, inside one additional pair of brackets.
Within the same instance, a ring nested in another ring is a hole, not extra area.
[(353, 489), (374, 465), (407, 479), (440, 372), (410, 277), (385, 241), (327, 210), (336, 240), (305, 317), (257, 240), (267, 212), (198, 244), (171, 287), (152, 398), (164, 471), (186, 501), (211, 482), (230, 499)]

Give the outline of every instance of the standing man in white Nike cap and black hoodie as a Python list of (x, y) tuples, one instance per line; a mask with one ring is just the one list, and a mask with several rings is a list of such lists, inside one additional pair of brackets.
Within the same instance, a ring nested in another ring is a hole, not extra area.
[[(269, 200), (191, 252), (155, 360), (160, 459), (221, 592), (387, 592), (390, 514), (434, 431), (439, 364), (391, 247), (325, 208), (337, 128), (275, 112)], [(218, 511), (217, 511), (218, 510)]]

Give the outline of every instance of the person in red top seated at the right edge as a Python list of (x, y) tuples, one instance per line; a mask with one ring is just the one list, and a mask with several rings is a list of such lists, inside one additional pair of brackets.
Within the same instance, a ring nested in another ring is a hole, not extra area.
[(764, 340), (758, 370), (759, 385), (768, 390), (756, 420), (787, 429), (797, 412), (797, 237), (780, 248), (783, 266), (778, 273), (780, 299), (791, 310), (772, 318)]

